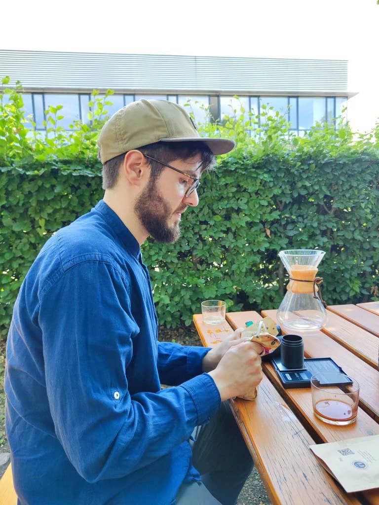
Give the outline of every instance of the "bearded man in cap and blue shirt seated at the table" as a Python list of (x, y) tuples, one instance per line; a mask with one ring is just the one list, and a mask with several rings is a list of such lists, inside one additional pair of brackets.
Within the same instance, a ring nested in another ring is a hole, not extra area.
[(139, 248), (178, 238), (202, 172), (233, 146), (199, 137), (165, 100), (103, 127), (104, 199), (46, 242), (14, 308), (5, 390), (19, 503), (235, 502), (251, 458), (220, 403), (260, 382), (261, 348), (238, 331), (214, 349), (159, 343)]

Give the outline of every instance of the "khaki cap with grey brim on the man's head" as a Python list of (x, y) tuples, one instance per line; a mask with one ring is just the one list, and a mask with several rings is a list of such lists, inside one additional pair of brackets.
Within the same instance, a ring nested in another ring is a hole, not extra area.
[(132, 102), (117, 111), (103, 126), (99, 139), (99, 158), (104, 164), (116, 156), (154, 142), (201, 140), (214, 155), (228, 153), (234, 140), (201, 137), (186, 111), (167, 100)]

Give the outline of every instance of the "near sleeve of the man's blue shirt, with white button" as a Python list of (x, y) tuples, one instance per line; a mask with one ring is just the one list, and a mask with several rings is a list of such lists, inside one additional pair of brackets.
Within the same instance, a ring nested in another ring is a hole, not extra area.
[(117, 265), (83, 261), (66, 270), (40, 299), (46, 389), (56, 435), (88, 482), (119, 478), (149, 465), (188, 439), (220, 405), (208, 374), (156, 393), (130, 395), (126, 371), (138, 326), (127, 284)]

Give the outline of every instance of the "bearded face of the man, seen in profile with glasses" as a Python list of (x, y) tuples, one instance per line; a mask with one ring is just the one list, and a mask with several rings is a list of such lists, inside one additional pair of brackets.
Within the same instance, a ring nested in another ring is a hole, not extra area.
[[(174, 160), (170, 165), (194, 177), (199, 177), (200, 155), (187, 160)], [(180, 218), (186, 208), (197, 206), (196, 190), (185, 196), (192, 179), (170, 168), (164, 168), (156, 181), (149, 183), (138, 197), (134, 211), (141, 224), (157, 242), (172, 243), (180, 236)]]

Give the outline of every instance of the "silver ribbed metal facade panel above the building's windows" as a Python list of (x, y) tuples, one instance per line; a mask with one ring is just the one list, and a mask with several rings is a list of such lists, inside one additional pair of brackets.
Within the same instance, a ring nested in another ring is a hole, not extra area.
[(348, 94), (347, 61), (0, 50), (26, 90)]

